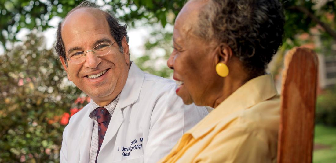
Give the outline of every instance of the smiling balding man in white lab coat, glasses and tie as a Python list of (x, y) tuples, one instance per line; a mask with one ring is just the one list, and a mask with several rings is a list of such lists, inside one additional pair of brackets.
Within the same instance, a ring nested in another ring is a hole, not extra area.
[(64, 130), (60, 162), (157, 162), (207, 114), (184, 105), (174, 82), (130, 61), (126, 25), (93, 3), (67, 14), (55, 49), (69, 80), (91, 97)]

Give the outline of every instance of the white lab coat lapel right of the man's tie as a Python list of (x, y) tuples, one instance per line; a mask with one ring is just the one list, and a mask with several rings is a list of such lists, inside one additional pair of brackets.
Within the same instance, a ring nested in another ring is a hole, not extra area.
[(122, 113), (122, 109), (133, 104), (139, 98), (143, 79), (144, 79), (143, 71), (141, 71), (135, 65), (134, 62), (132, 62), (128, 72), (127, 81), (125, 83), (123, 90), (120, 93), (117, 106), (112, 114), (111, 121), (109, 123), (109, 127), (106, 131), (100, 150), (104, 150), (104, 147), (117, 134), (119, 127), (123, 123), (124, 116)]

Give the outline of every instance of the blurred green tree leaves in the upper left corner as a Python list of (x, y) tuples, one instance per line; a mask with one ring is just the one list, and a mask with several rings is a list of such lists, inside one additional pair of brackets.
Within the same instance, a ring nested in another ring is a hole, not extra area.
[(3, 4), (0, 5), (0, 42), (4, 44), (7, 39), (15, 41), (14, 36), (21, 28), (46, 30), (53, 16), (65, 16), (78, 3), (77, 0), (48, 0), (45, 3), (37, 0), (0, 0)]

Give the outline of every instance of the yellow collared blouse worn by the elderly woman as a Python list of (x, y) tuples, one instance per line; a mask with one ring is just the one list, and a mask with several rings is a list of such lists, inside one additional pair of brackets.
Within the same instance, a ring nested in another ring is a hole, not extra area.
[(238, 88), (159, 162), (276, 162), (280, 97), (270, 74)]

